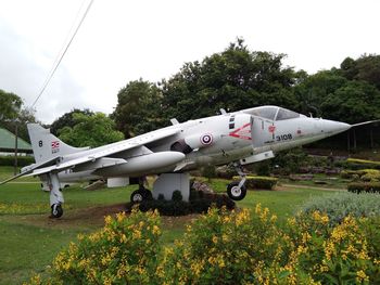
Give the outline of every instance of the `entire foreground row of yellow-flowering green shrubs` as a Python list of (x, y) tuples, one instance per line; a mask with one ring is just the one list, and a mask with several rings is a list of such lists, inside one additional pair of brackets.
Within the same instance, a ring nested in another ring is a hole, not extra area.
[(58, 255), (52, 278), (31, 284), (375, 284), (380, 280), (380, 218), (330, 223), (320, 211), (280, 228), (254, 211), (212, 208), (173, 246), (160, 245), (156, 212), (107, 217), (100, 232)]

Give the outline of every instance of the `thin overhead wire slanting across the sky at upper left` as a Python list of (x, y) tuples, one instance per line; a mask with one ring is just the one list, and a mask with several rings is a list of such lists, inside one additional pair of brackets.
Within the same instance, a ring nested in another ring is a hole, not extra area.
[[(86, 0), (85, 0), (85, 1), (86, 1)], [(84, 23), (86, 16), (87, 16), (87, 14), (88, 14), (88, 11), (90, 10), (90, 8), (91, 8), (93, 1), (94, 1), (94, 0), (90, 0), (90, 2), (88, 3), (86, 11), (85, 11), (85, 13), (83, 14), (83, 16), (81, 16), (81, 18), (80, 18), (80, 22), (78, 23), (77, 27), (75, 28), (75, 30), (74, 30), (73, 35), (71, 36), (68, 42), (67, 42), (67, 40), (65, 40), (64, 46), (63, 46), (63, 48), (61, 49), (61, 52), (60, 52), (60, 53), (58, 54), (58, 56), (55, 57), (55, 61), (54, 61), (54, 63), (53, 63), (53, 66), (52, 66), (51, 70), (50, 70), (50, 73), (48, 74), (48, 77), (47, 77), (47, 79), (45, 80), (45, 82), (43, 82), (43, 85), (42, 85), (42, 88), (41, 88), (41, 90), (39, 91), (39, 93), (38, 93), (38, 95), (37, 95), (35, 102), (31, 104), (30, 108), (34, 108), (34, 106), (37, 104), (38, 100), (39, 100), (40, 96), (42, 95), (43, 91), (45, 91), (46, 88), (48, 87), (48, 85), (49, 85), (51, 78), (53, 77), (55, 70), (58, 69), (58, 67), (59, 67), (60, 64), (61, 64), (61, 62), (62, 62), (62, 60), (63, 60), (63, 56), (65, 56), (65, 54), (66, 54), (66, 52), (67, 52), (69, 46), (72, 44), (72, 42), (73, 42), (73, 40), (74, 40), (74, 38), (75, 38), (75, 36), (76, 36), (76, 34), (78, 33), (78, 30), (79, 30), (81, 24)], [(81, 8), (83, 8), (84, 3), (85, 3), (85, 2), (83, 2), (81, 7), (80, 7), (80, 9), (79, 9), (79, 12), (81, 11)], [(78, 12), (78, 13), (79, 13), (79, 12)], [(77, 16), (77, 17), (78, 17), (78, 16)], [(77, 17), (76, 17), (76, 18), (77, 18)], [(75, 18), (75, 21), (74, 21), (73, 26), (74, 26), (75, 23), (76, 23), (76, 18)], [(68, 38), (71, 31), (73, 30), (73, 26), (72, 26), (72, 28), (71, 28), (71, 30), (69, 30), (69, 33), (68, 33), (68, 35), (67, 35), (67, 38)], [(66, 39), (67, 39), (67, 38), (66, 38)], [(66, 42), (67, 42), (67, 43), (66, 43)]]

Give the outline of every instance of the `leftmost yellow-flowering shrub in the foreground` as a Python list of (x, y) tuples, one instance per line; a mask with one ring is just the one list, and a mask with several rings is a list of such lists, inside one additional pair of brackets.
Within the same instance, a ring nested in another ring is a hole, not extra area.
[(54, 259), (54, 283), (148, 284), (155, 283), (161, 236), (157, 212), (132, 210), (105, 218), (102, 230), (79, 235)]

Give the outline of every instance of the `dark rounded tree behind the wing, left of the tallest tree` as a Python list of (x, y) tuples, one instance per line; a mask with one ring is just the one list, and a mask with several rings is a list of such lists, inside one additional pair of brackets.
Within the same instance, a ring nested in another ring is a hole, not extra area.
[(130, 81), (117, 94), (117, 106), (112, 114), (116, 128), (126, 138), (162, 127), (161, 91), (151, 82)]

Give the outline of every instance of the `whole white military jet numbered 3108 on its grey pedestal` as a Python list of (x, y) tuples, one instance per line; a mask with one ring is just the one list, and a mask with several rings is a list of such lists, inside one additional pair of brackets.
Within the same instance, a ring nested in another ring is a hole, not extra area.
[[(63, 194), (60, 177), (142, 178), (159, 174), (153, 193), (140, 187), (132, 202), (157, 197), (164, 192), (170, 198), (180, 190), (189, 196), (189, 170), (206, 165), (233, 164), (241, 177), (231, 182), (227, 194), (231, 199), (244, 198), (245, 174), (241, 166), (273, 158), (275, 153), (315, 142), (343, 132), (354, 125), (313, 118), (278, 107), (259, 106), (239, 112), (188, 120), (172, 119), (169, 127), (96, 148), (69, 146), (37, 124), (28, 125), (36, 164), (17, 176), (39, 176), (48, 181), (52, 217), (62, 216)], [(167, 193), (168, 192), (168, 193)]]

